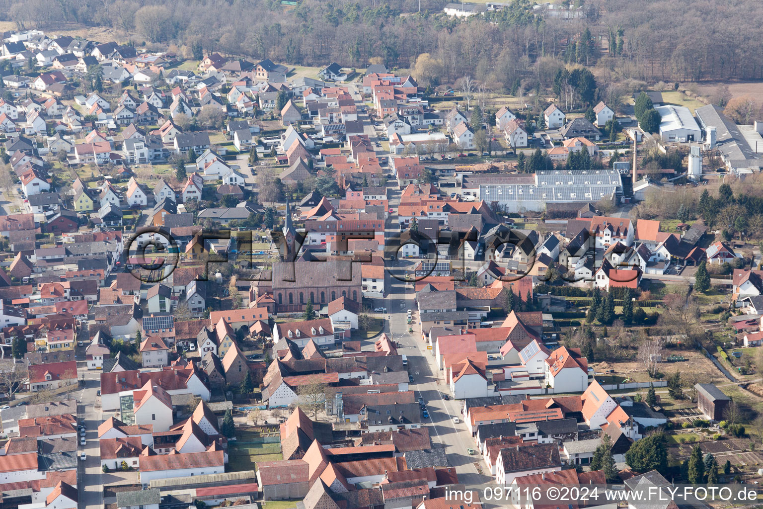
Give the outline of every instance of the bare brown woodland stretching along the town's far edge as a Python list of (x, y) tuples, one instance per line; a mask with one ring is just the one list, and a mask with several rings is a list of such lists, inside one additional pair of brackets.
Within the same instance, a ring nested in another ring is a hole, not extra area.
[[(567, 3), (568, 0), (566, 0)], [(448, 18), (446, 0), (2, 0), (0, 18), (19, 29), (111, 27), (120, 42), (211, 51), (291, 65), (413, 68), (437, 64), (432, 85), (472, 76), (494, 91), (551, 87), (565, 64), (600, 82), (763, 79), (763, 2), (758, 0), (576, 0), (584, 18), (563, 20), (529, 0), (485, 16)]]

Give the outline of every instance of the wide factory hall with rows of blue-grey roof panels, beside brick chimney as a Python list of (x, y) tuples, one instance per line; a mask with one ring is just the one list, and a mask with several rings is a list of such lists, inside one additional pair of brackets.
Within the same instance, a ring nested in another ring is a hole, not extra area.
[[(523, 176), (531, 177), (532, 176)], [(587, 203), (623, 195), (620, 172), (614, 169), (571, 171), (549, 169), (537, 172), (533, 183), (485, 183), (476, 198), (497, 201), (507, 212), (540, 212), (547, 203)]]

